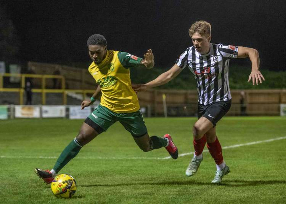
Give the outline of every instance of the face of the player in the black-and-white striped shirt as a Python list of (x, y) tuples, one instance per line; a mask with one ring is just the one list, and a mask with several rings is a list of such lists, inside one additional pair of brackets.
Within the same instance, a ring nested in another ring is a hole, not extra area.
[(210, 39), (212, 37), (210, 35), (201, 35), (196, 32), (192, 35), (192, 42), (195, 46), (195, 49), (201, 53), (206, 54), (210, 51)]

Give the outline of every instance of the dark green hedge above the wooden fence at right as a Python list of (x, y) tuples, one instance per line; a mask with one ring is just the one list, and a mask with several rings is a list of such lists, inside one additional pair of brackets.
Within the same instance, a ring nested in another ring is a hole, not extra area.
[[(143, 84), (155, 79), (161, 73), (167, 71), (164, 68), (153, 69), (136, 69), (131, 70), (132, 83)], [(229, 67), (229, 85), (230, 89), (282, 89), (286, 88), (286, 72), (285, 71), (271, 71), (261, 69), (265, 81), (262, 84), (252, 85), (248, 81), (248, 76), (251, 73), (250, 67), (231, 66)], [(185, 68), (175, 79), (169, 83), (157, 87), (157, 89), (197, 89), (194, 75), (189, 69)]]

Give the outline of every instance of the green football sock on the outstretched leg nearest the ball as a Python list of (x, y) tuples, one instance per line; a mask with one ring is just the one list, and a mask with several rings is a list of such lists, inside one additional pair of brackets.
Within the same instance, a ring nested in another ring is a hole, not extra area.
[(58, 160), (55, 163), (54, 170), (58, 173), (70, 160), (72, 160), (80, 151), (82, 145), (74, 138), (68, 146), (62, 151)]

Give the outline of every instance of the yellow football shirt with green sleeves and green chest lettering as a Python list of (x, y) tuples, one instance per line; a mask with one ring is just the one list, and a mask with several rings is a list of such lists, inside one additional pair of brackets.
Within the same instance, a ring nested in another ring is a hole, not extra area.
[(131, 87), (129, 68), (140, 65), (141, 60), (126, 52), (108, 50), (100, 64), (91, 63), (88, 71), (102, 92), (100, 105), (117, 113), (139, 110), (137, 95)]

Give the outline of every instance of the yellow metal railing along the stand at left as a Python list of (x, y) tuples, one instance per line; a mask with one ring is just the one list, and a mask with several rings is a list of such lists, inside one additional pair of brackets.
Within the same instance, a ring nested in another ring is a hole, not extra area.
[[(21, 78), (21, 87), (19, 88), (5, 88), (3, 87), (3, 77), (19, 77)], [(32, 89), (33, 93), (42, 93), (42, 105), (46, 105), (46, 93), (62, 93), (63, 94), (63, 105), (67, 104), (67, 94), (72, 93), (82, 93), (83, 99), (86, 98), (87, 93), (94, 93), (95, 90), (82, 90), (82, 89), (65, 89), (65, 78), (58, 75), (39, 75), (39, 74), (10, 74), (2, 73), (0, 74), (0, 92), (19, 92), (19, 104), (23, 105), (23, 94), (25, 91), (25, 78), (40, 78), (42, 79), (42, 88), (41, 89)], [(62, 89), (46, 89), (46, 79), (61, 79), (62, 80)]]

